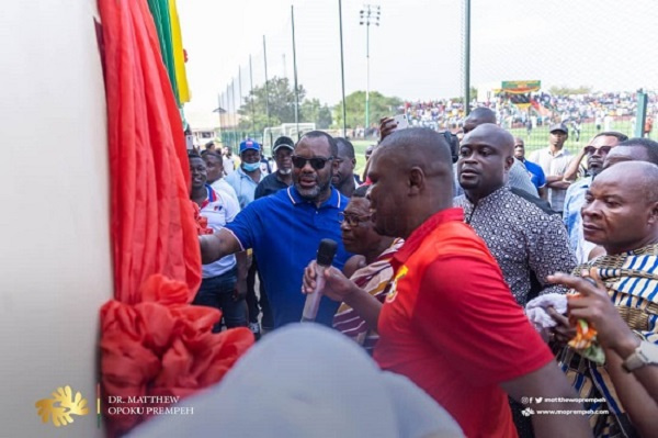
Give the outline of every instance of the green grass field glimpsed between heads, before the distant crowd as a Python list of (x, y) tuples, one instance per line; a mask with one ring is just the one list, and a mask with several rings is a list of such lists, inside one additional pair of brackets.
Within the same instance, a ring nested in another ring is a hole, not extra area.
[[(612, 131), (619, 131), (623, 134), (626, 134), (628, 137), (633, 137), (633, 132), (631, 122), (614, 122), (612, 123)], [(533, 150), (541, 149), (543, 147), (548, 146), (548, 126), (540, 126), (532, 130), (530, 136), (525, 128), (512, 128), (510, 133), (514, 136), (523, 138), (525, 143), (525, 155), (529, 156)], [(593, 137), (598, 133), (597, 126), (593, 123), (583, 123), (580, 131), (580, 142), (576, 142), (576, 137), (572, 133), (569, 133), (569, 138), (565, 144), (565, 147), (572, 154), (578, 154), (580, 148), (587, 146), (590, 138)], [(648, 136), (651, 139), (658, 139), (658, 133), (653, 131)], [(376, 139), (358, 139), (353, 141), (354, 153), (356, 154), (356, 169), (355, 173), (362, 175), (363, 169), (365, 168), (365, 148), (368, 145), (377, 143)]]

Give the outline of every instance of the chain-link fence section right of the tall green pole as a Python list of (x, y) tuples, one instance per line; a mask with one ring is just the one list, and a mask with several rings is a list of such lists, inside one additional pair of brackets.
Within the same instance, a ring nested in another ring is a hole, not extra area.
[[(656, 138), (656, 18), (658, 4), (644, 0), (474, 0), (474, 103), (495, 109), (501, 126), (523, 138), (527, 150), (546, 146), (549, 125), (556, 123), (569, 130), (565, 147), (572, 153), (604, 131), (629, 137), (642, 131)], [(541, 81), (538, 90), (522, 92), (514, 85), (513, 93), (501, 90), (504, 81), (533, 80)], [(646, 117), (637, 121), (639, 89), (648, 105)]]

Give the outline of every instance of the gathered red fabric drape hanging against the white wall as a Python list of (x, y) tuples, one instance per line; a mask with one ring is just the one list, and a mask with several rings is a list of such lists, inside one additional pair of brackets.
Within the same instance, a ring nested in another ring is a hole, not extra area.
[[(103, 400), (189, 395), (252, 344), (212, 334), (220, 312), (191, 306), (201, 282), (185, 142), (146, 0), (99, 0), (111, 170), (114, 300), (101, 308)], [(106, 408), (106, 404), (104, 403)], [(106, 415), (110, 435), (143, 418)]]

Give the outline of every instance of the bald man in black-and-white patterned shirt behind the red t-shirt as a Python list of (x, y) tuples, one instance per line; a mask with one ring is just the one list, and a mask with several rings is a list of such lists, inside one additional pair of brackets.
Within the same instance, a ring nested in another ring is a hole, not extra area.
[(506, 182), (513, 153), (514, 138), (494, 124), (467, 134), (457, 161), (466, 194), (455, 198), (455, 206), (464, 209), (466, 223), (487, 243), (514, 299), (525, 305), (533, 277), (540, 293), (565, 293), (546, 277), (570, 272), (576, 260), (559, 216), (510, 191)]

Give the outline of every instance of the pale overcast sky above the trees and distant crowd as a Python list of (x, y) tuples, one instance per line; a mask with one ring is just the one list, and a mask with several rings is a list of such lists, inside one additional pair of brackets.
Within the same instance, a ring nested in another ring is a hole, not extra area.
[[(231, 79), (249, 90), (268, 74), (293, 79), (295, 5), (298, 81), (307, 97), (341, 99), (338, 0), (179, 0), (193, 110), (212, 110)], [(363, 2), (343, 0), (345, 92), (365, 90)], [(406, 99), (462, 93), (463, 0), (379, 0), (371, 26), (371, 90)], [(633, 5), (631, 8), (629, 5)], [(658, 2), (472, 0), (472, 85), (540, 79), (595, 90), (658, 89)], [(285, 64), (284, 64), (285, 63)]]

